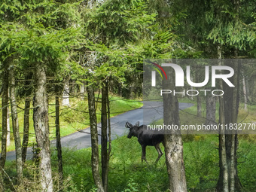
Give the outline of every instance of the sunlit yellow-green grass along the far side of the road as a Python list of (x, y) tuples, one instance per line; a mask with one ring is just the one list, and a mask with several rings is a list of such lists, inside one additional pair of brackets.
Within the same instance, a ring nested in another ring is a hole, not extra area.
[[(99, 102), (97, 102), (97, 120), (100, 121), (100, 110), (101, 110), (101, 95), (99, 95)], [(96, 98), (97, 99), (97, 98)], [(70, 106), (60, 106), (60, 134), (61, 136), (67, 136), (71, 133), (75, 133), (78, 130), (84, 130), (90, 126), (89, 114), (88, 114), (88, 104), (87, 99), (77, 99), (70, 98)], [(121, 114), (126, 111), (133, 110), (135, 108), (142, 107), (142, 102), (132, 99), (123, 99), (118, 96), (110, 96), (110, 108), (111, 108), (111, 117)], [(18, 104), (18, 118), (20, 125), (20, 138), (21, 142), (23, 141), (23, 108), (24, 101), (21, 100)], [(32, 104), (31, 104), (32, 108)], [(35, 143), (35, 131), (32, 121), (32, 109), (29, 114), (29, 146), (32, 146)], [(2, 111), (0, 111), (2, 116)], [(1, 126), (1, 125), (0, 125)], [(10, 117), (10, 126), (11, 126), (11, 145), (8, 146), (8, 151), (13, 151), (14, 146), (14, 136), (12, 134), (12, 124)], [(55, 105), (54, 99), (50, 99), (49, 102), (49, 126), (50, 126), (50, 140), (55, 139)], [(0, 127), (2, 129), (2, 127)], [(1, 134), (0, 134), (1, 136)], [(0, 142), (1, 145), (1, 142)]]

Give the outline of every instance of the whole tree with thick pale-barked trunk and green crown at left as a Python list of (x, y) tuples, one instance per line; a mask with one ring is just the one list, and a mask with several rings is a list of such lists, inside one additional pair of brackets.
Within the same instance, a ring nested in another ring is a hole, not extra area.
[[(27, 6), (32, 6), (32, 4)], [(68, 3), (66, 6), (69, 6), (69, 11), (72, 12), (72, 8), (77, 5)], [(56, 72), (65, 66), (65, 62), (69, 62), (67, 61), (67, 47), (74, 45), (73, 35), (77, 35), (78, 29), (73, 28), (72, 24), (74, 23), (66, 23), (65, 29), (54, 28), (57, 23), (56, 18), (69, 16), (69, 14), (61, 14), (66, 8), (62, 5), (45, 2), (44, 4), (35, 4), (30, 8), (34, 12), (27, 12), (23, 15), (26, 25), (19, 28), (19, 36), (15, 39), (14, 45), (20, 55), (21, 65), (32, 66), (34, 69), (33, 121), (39, 149), (40, 182), (42, 190), (53, 191), (46, 89), (47, 72)], [(35, 15), (42, 9), (44, 10), (43, 14)], [(58, 17), (56, 17), (57, 15)], [(76, 20), (76, 17), (73, 19)], [(61, 27), (64, 28), (64, 26)]]

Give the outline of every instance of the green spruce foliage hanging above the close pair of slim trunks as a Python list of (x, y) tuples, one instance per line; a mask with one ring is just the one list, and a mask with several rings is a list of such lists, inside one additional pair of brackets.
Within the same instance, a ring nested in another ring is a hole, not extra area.
[(143, 38), (156, 14), (149, 14), (143, 1), (110, 0), (86, 11), (84, 69), (90, 85), (101, 87), (99, 82), (108, 79), (127, 89), (130, 81), (141, 82), (128, 44)]

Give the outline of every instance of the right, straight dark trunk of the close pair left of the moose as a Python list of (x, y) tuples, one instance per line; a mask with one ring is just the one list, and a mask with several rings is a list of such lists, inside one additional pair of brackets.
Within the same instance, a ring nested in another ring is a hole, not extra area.
[(102, 82), (102, 184), (108, 191), (108, 82)]

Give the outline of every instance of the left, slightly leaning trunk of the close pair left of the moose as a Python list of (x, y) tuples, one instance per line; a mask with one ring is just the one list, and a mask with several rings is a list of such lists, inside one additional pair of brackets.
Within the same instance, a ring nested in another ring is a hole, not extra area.
[(90, 115), (90, 136), (92, 143), (92, 171), (93, 171), (93, 180), (99, 192), (103, 192), (102, 179), (99, 175), (99, 140), (98, 140), (98, 130), (97, 130), (97, 117), (96, 117), (96, 108), (95, 108), (95, 96), (93, 87), (87, 88), (88, 94), (88, 107)]

